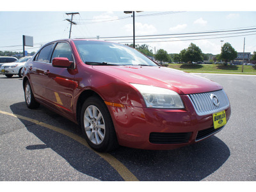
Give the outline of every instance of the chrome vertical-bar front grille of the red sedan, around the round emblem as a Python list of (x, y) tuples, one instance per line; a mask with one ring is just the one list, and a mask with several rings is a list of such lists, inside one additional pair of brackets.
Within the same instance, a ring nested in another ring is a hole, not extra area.
[[(216, 95), (220, 104), (218, 106), (214, 105), (211, 99), (211, 95)], [(211, 113), (216, 113), (229, 106), (229, 101), (224, 90), (218, 90), (216, 92), (207, 93), (195, 93), (189, 94), (189, 99), (193, 103), (197, 115), (209, 115)]]

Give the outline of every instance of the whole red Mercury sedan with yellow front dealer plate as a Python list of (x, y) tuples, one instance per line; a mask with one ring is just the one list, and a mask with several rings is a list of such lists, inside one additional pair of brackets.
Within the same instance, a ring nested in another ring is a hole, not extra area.
[(223, 129), (231, 113), (220, 84), (111, 42), (46, 44), (27, 63), (23, 86), (28, 108), (44, 104), (81, 125), (100, 152), (189, 145)]

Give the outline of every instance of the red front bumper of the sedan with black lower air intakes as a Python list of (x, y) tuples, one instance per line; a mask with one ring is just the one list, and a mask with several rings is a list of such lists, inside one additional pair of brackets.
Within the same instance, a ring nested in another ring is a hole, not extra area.
[[(169, 150), (190, 145), (221, 131), (214, 129), (212, 114), (198, 116), (188, 97), (185, 109), (153, 109), (108, 106), (118, 143), (125, 147)], [(230, 106), (225, 109), (227, 121)]]

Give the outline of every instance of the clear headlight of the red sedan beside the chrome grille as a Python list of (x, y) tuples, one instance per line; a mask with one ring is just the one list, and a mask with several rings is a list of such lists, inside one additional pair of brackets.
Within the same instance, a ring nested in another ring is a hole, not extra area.
[(141, 93), (147, 108), (184, 108), (180, 95), (172, 90), (144, 84), (131, 84)]

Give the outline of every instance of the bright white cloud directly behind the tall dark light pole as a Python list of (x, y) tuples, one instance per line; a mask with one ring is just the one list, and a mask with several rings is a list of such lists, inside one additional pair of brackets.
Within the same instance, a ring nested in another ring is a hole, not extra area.
[[(132, 34), (133, 25), (127, 24), (124, 26), (127, 33)], [(148, 35), (154, 34), (157, 32), (157, 29), (152, 24), (142, 24), (141, 22), (135, 23), (135, 35)]]

